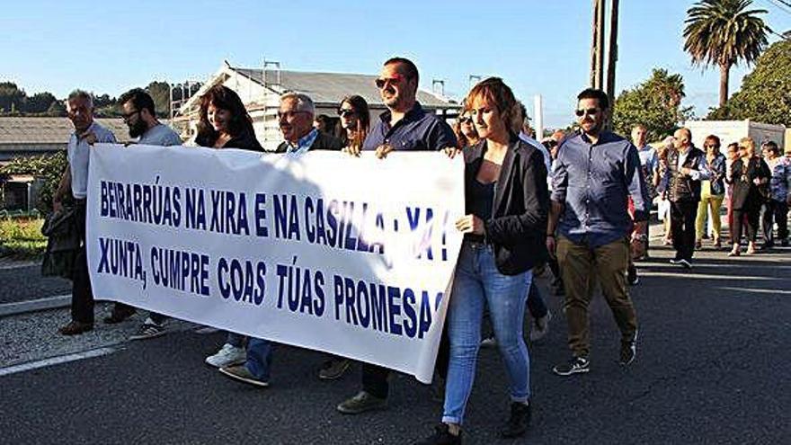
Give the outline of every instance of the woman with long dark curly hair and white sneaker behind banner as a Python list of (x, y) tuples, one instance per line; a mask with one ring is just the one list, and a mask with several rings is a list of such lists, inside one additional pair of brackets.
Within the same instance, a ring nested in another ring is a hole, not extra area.
[[(253, 119), (244, 108), (239, 96), (224, 85), (216, 85), (200, 97), (200, 121), (195, 144), (200, 147), (241, 148), (263, 151), (255, 138)], [(210, 366), (244, 363), (244, 335), (228, 333), (226, 343), (213, 355), (206, 358)]]

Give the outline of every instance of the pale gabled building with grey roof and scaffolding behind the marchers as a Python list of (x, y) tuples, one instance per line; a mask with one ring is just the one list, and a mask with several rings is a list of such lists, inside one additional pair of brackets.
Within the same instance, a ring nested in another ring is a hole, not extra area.
[[(200, 96), (214, 85), (225, 85), (239, 94), (244, 102), (253, 118), (255, 135), (262, 146), (267, 150), (274, 150), (282, 142), (277, 117), (280, 94), (306, 93), (316, 103), (316, 116), (325, 114), (333, 120), (337, 120), (337, 110), (342, 98), (359, 94), (369, 103), (373, 119), (387, 110), (374, 84), (376, 79), (377, 76), (373, 75), (231, 67), (225, 61), (197, 93), (181, 104), (181, 108), (173, 116), (173, 128), (182, 129), (182, 138), (194, 136)], [(456, 116), (460, 108), (457, 102), (425, 90), (418, 91), (417, 100), (424, 109), (446, 117)]]

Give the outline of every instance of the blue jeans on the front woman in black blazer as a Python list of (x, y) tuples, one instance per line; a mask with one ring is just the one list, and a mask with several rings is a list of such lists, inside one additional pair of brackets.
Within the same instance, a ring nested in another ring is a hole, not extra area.
[(530, 397), (530, 358), (522, 337), (525, 300), (532, 273), (503, 275), (491, 246), (465, 241), (458, 256), (448, 312), (450, 362), (444, 423), (461, 424), (475, 378), (484, 306), (489, 307), (497, 347), (510, 381), (511, 401)]

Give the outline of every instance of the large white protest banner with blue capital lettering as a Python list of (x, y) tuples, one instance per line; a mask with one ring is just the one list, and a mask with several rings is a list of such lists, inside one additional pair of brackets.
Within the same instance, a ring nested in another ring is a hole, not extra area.
[(431, 381), (463, 169), (436, 152), (97, 144), (93, 294)]

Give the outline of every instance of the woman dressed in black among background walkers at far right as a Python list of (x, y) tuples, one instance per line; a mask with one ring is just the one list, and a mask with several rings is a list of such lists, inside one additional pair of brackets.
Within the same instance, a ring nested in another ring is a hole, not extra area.
[[(762, 191), (768, 190), (769, 179), (772, 177), (763, 159), (755, 154), (755, 141), (742, 138), (739, 141), (739, 159), (731, 165), (733, 194), (733, 249), (728, 256), (740, 254), (739, 243), (742, 240), (742, 227), (747, 221), (747, 254), (755, 254), (755, 237), (758, 234), (760, 207), (766, 198)], [(746, 218), (745, 218), (746, 217)]]

